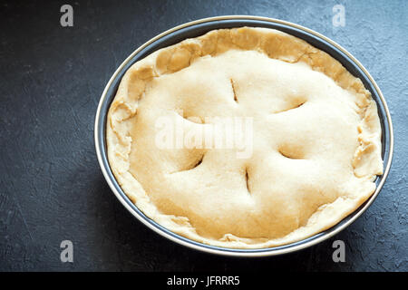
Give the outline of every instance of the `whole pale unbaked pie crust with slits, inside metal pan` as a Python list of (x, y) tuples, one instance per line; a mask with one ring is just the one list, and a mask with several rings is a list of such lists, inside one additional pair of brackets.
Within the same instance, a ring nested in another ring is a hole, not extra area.
[[(159, 148), (163, 116), (196, 133), (207, 117), (250, 118), (252, 153)], [(377, 108), (361, 80), (267, 28), (210, 31), (134, 63), (106, 126), (112, 172), (135, 205), (213, 246), (276, 247), (315, 235), (355, 211), (383, 173)]]

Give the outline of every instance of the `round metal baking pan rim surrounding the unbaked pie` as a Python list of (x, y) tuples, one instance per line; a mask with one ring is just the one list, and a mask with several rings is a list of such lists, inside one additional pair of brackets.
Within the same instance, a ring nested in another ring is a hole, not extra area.
[[(181, 237), (166, 229), (165, 227), (161, 227), (158, 223), (146, 217), (122, 191), (120, 185), (112, 174), (112, 170), (107, 159), (105, 140), (107, 112), (116, 94), (119, 83), (121, 82), (121, 77), (128, 70), (131, 64), (141, 60), (145, 56), (153, 53), (160, 48), (179, 43), (186, 38), (197, 37), (214, 29), (242, 26), (257, 26), (277, 29), (287, 34), (292, 34), (298, 38), (301, 38), (307, 43), (314, 45), (316, 48), (325, 51), (325, 53), (329, 53), (330, 55), (332, 55), (337, 61), (342, 63), (350, 73), (360, 78), (362, 82), (364, 82), (365, 88), (372, 93), (374, 101), (378, 106), (378, 114), (380, 116), (381, 126), (383, 130), (382, 155), (384, 160), (384, 174), (375, 179), (376, 189), (374, 194), (368, 200), (366, 200), (360, 208), (357, 208), (355, 212), (341, 220), (334, 227), (331, 227), (313, 237), (308, 237), (299, 242), (280, 247), (268, 247), (259, 249), (233, 249), (226, 247), (213, 247), (190, 240), (186, 237)], [(107, 180), (113, 193), (121, 201), (121, 204), (125, 208), (127, 208), (127, 210), (129, 210), (135, 218), (138, 218), (144, 225), (150, 227), (156, 233), (159, 233), (161, 236), (167, 237), (171, 241), (177, 242), (180, 245), (194, 248), (203, 252), (225, 256), (280, 255), (316, 245), (317, 243), (322, 242), (329, 237), (335, 236), (335, 234), (353, 223), (356, 218), (359, 218), (364, 213), (365, 209), (367, 209), (373, 203), (374, 199), (383, 188), (384, 181), (390, 170), (391, 161), (393, 158), (393, 125), (390, 112), (388, 111), (387, 104), (384, 100), (384, 96), (380, 91), (378, 85), (374, 82), (374, 79), (370, 75), (370, 73), (367, 72), (364, 66), (359, 63), (352, 54), (348, 53), (343, 47), (325, 37), (324, 35), (318, 34), (306, 27), (288, 23), (282, 20), (248, 15), (211, 17), (189, 22), (187, 24), (181, 24), (177, 27), (171, 28), (170, 30), (162, 34), (157, 35), (156, 37), (153, 37), (147, 43), (142, 44), (141, 47), (131, 53), (131, 55), (123, 63), (121, 63), (121, 66), (116, 70), (115, 73), (113, 73), (112, 78), (102, 92), (101, 101), (99, 102), (99, 106), (96, 112), (94, 133), (96, 154), (102, 169), (103, 176)]]

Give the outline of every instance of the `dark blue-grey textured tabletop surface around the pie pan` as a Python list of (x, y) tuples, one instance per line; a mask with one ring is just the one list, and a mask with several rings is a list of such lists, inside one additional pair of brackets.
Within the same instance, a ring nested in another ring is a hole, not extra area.
[[(60, 7), (73, 5), (63, 28)], [(332, 8), (345, 6), (345, 27)], [(392, 113), (395, 153), (384, 189), (353, 225), (316, 247), (267, 258), (202, 254), (131, 217), (102, 177), (93, 120), (105, 84), (141, 43), (220, 14), (302, 24), (373, 75)], [(0, 270), (407, 271), (407, 1), (0, 2)], [(60, 243), (73, 241), (73, 263)], [(335, 239), (346, 262), (332, 260)]]

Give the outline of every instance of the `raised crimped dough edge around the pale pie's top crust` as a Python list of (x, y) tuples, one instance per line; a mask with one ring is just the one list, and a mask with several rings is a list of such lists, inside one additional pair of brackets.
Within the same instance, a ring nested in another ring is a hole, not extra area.
[[(176, 73), (188, 67), (196, 58), (219, 55), (229, 49), (255, 50), (283, 62), (307, 63), (313, 70), (325, 73), (341, 88), (352, 92), (361, 116), (361, 123), (358, 126), (360, 145), (355, 151), (353, 160), (355, 175), (373, 181), (376, 175), (383, 174), (381, 127), (377, 107), (370, 92), (364, 88), (363, 82), (349, 73), (328, 53), (316, 49), (295, 36), (269, 28), (240, 27), (213, 30), (202, 36), (162, 48), (131, 65), (124, 74), (108, 112), (106, 124), (108, 160), (121, 189), (148, 218), (162, 227), (182, 237), (216, 247), (277, 247), (311, 237), (335, 226), (360, 207), (374, 193), (375, 186), (371, 192), (356, 193), (354, 197), (339, 197), (335, 202), (321, 206), (308, 219), (306, 226), (298, 227), (285, 237), (263, 239), (226, 234), (221, 239), (215, 240), (199, 236), (195, 228), (189, 224), (188, 218), (160, 213), (138, 180), (134, 179), (129, 172), (131, 137), (125, 121), (137, 113), (138, 100), (141, 99), (146, 84), (152, 78), (166, 73)], [(374, 154), (375, 158), (374, 166), (368, 169), (364, 166), (366, 154)]]

